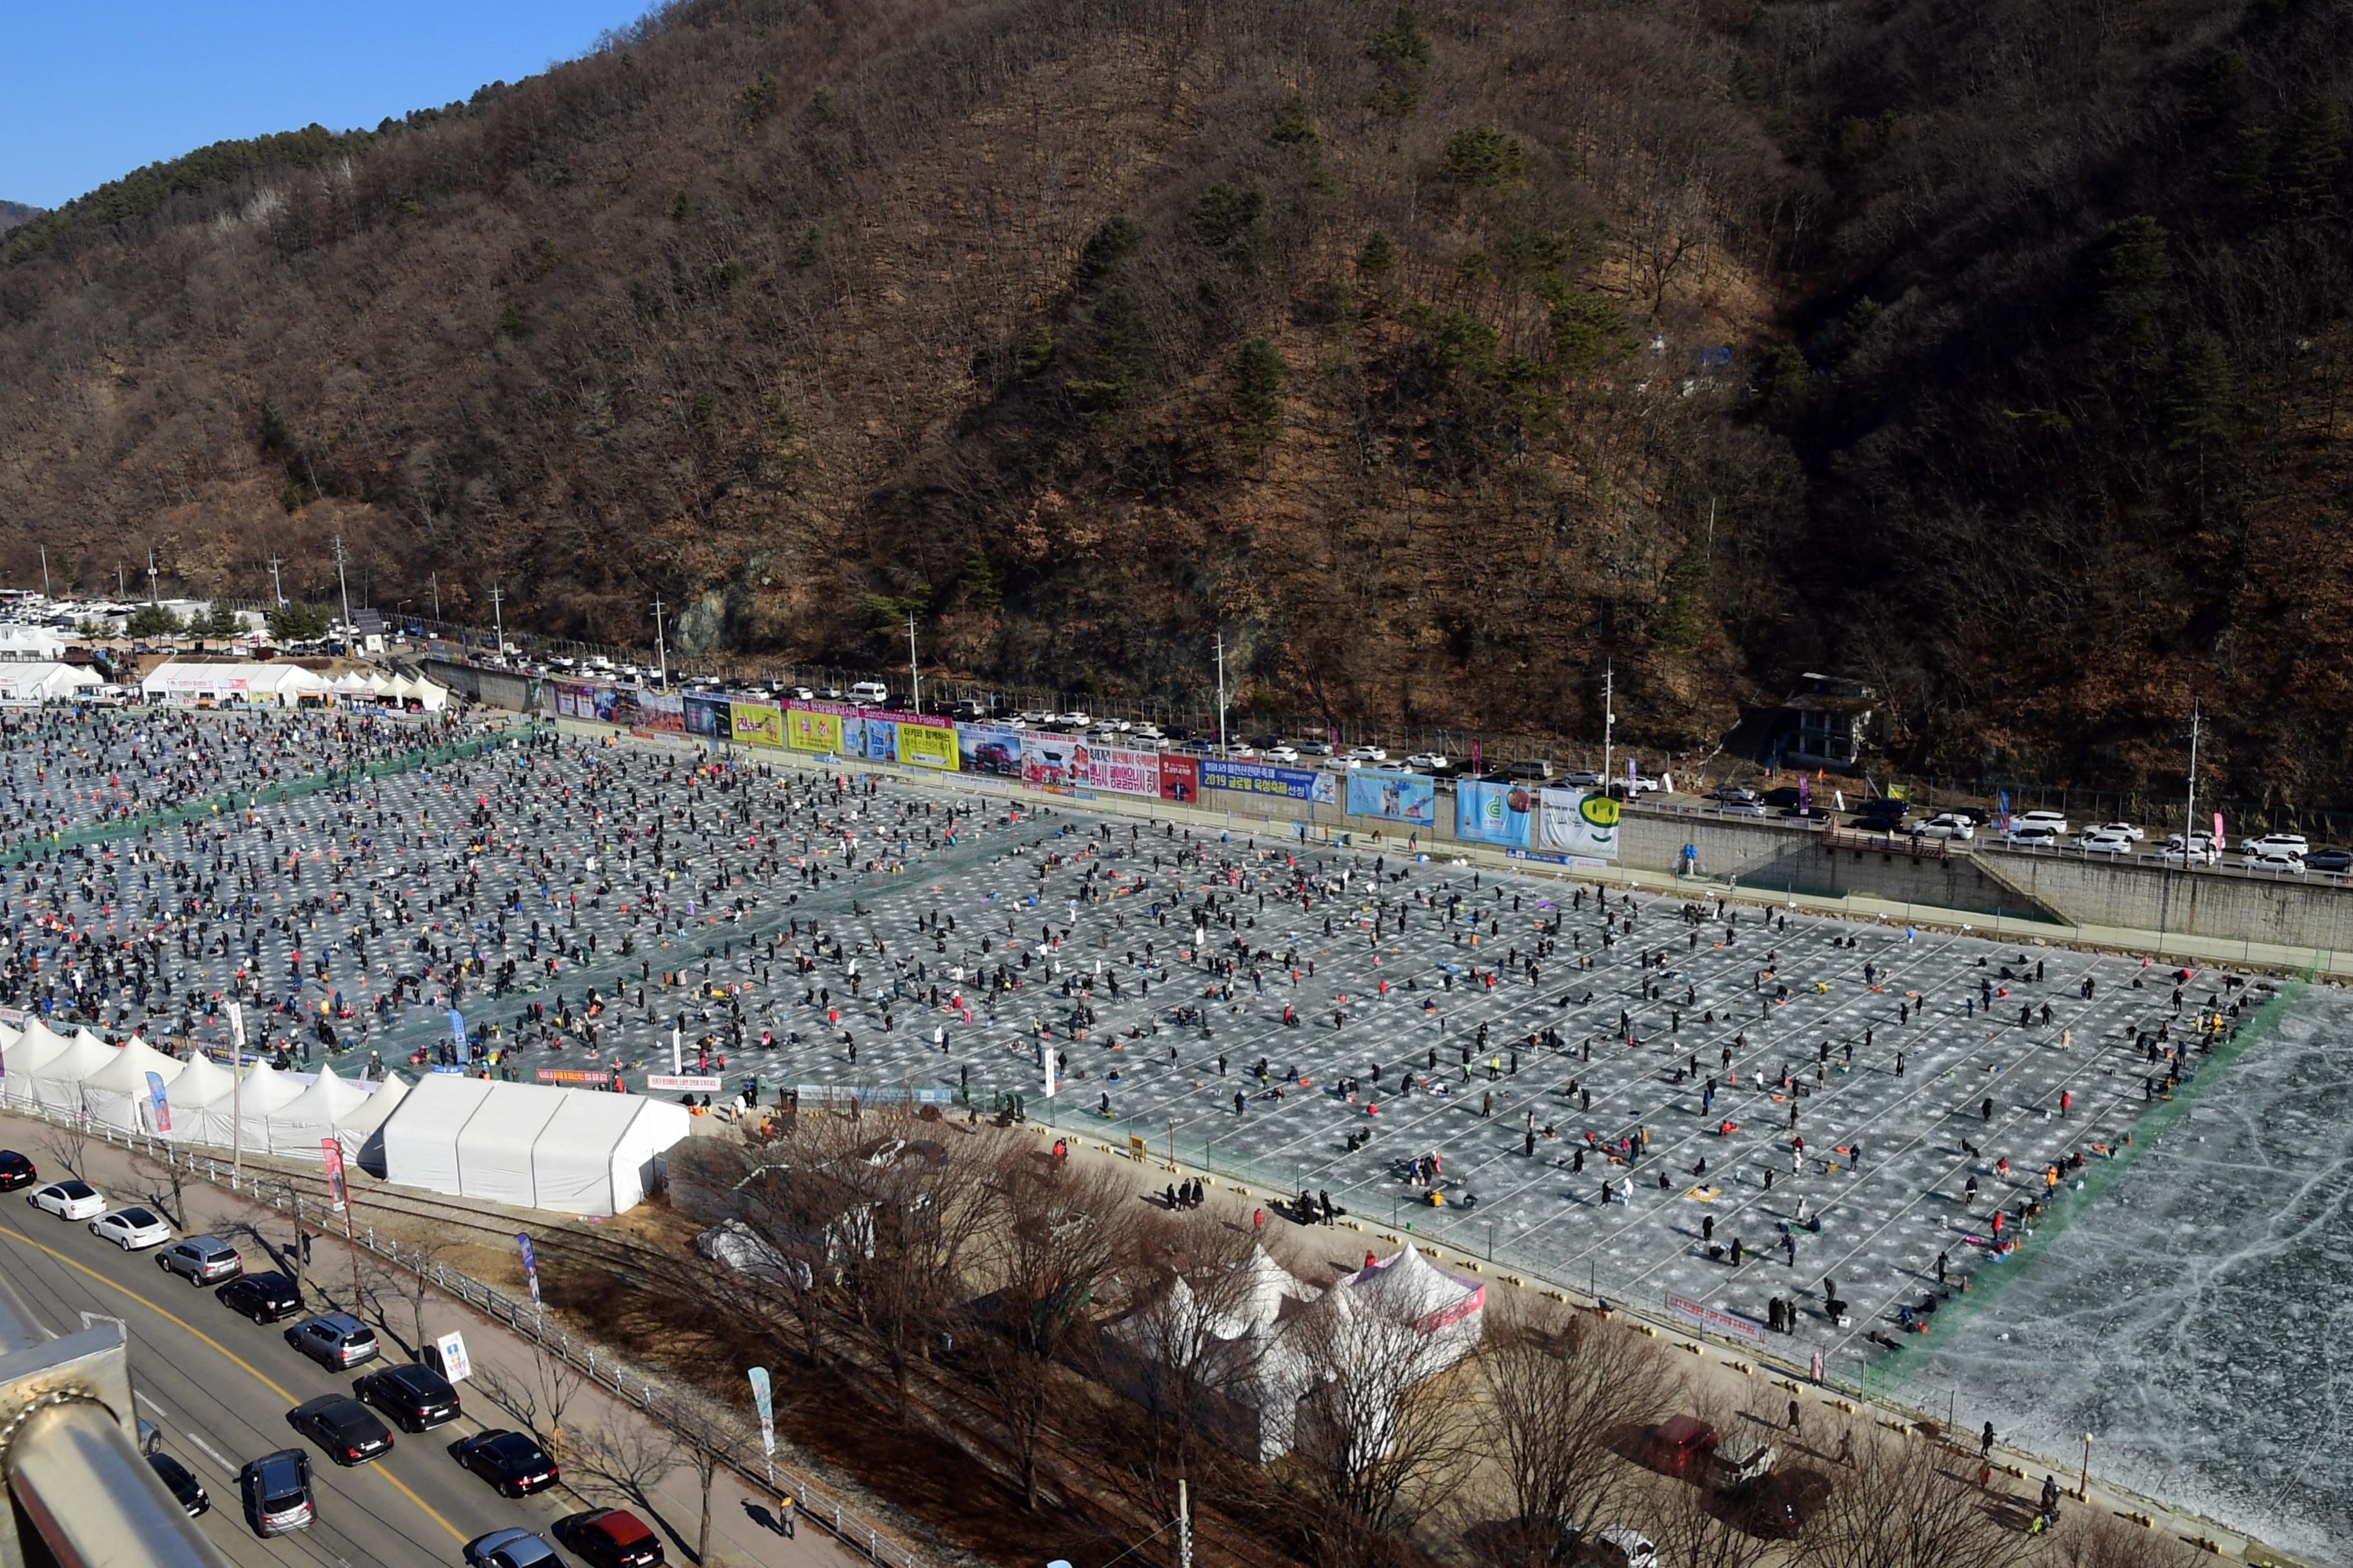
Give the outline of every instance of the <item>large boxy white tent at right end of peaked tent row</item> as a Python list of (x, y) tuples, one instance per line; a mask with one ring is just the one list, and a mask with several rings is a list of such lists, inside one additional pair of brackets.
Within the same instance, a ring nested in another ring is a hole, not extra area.
[(656, 1180), (682, 1105), (435, 1072), (384, 1121), (384, 1175), (452, 1197), (614, 1215)]

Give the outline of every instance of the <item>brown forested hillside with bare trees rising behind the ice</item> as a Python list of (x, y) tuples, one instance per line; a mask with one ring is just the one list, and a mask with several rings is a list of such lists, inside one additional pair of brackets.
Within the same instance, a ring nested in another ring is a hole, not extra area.
[[(2346, 799), (2353, 0), (680, 0), (9, 235), (0, 564)], [(1621, 729), (1626, 733), (1626, 729)]]

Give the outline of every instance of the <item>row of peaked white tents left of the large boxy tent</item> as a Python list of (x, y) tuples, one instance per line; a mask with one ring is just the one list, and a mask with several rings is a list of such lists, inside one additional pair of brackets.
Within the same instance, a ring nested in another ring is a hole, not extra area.
[[(0, 1070), (7, 1110), (87, 1117), (89, 1126), (118, 1133), (313, 1161), (325, 1159), (327, 1138), (358, 1159), (407, 1093), (398, 1077), (362, 1084), (336, 1077), (334, 1067), (313, 1077), (268, 1063), (249, 1065), (240, 1091), (235, 1074), (209, 1056), (165, 1056), (136, 1034), (111, 1046), (87, 1030), (59, 1034), (38, 1018), (21, 1027), (0, 1023)], [(162, 1086), (160, 1105), (155, 1084)]]

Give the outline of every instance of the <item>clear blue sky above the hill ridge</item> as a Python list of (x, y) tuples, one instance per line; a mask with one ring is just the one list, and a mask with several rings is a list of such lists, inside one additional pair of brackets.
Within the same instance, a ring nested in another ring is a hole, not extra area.
[(551, 61), (649, 0), (28, 0), (0, 38), (0, 200), (56, 207), (228, 136), (473, 96)]

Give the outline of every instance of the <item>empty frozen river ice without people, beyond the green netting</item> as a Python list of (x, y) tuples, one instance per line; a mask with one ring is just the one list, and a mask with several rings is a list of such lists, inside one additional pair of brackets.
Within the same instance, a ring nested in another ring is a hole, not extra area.
[(2353, 994), (2306, 990), (2195, 1107), (1908, 1373), (1965, 1422), (2353, 1563)]

